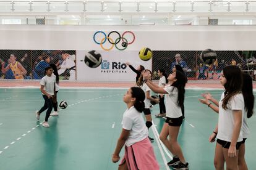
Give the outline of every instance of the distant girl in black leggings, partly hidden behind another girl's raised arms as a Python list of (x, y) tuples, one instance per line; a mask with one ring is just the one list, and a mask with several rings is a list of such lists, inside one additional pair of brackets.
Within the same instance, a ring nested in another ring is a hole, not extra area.
[[(164, 87), (166, 83), (168, 83), (167, 75), (165, 73), (165, 70), (159, 69), (157, 71), (158, 76), (160, 76), (158, 86), (159, 87)], [(156, 115), (156, 118), (162, 118), (163, 116), (166, 115), (166, 109), (164, 105), (164, 94), (158, 94), (160, 103), (159, 103), (159, 108), (160, 108), (160, 113)]]

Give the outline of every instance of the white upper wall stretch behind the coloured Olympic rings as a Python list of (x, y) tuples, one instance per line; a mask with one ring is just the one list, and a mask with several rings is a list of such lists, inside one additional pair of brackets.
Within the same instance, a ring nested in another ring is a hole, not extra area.
[[(1, 49), (101, 50), (93, 41), (98, 31), (133, 31), (127, 47), (152, 50), (255, 50), (256, 26), (61, 26), (0, 25)], [(114, 36), (114, 35), (113, 35)], [(127, 35), (128, 37), (129, 35)], [(107, 46), (107, 44), (106, 44)]]

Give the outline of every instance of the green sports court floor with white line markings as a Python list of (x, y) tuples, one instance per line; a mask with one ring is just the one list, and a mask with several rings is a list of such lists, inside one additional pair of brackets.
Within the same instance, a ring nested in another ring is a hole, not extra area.
[[(59, 117), (50, 118), (51, 127), (45, 128), (40, 124), (45, 113), (40, 122), (35, 119), (35, 110), (43, 105), (39, 89), (0, 89), (0, 169), (117, 169), (111, 154), (126, 110), (124, 92), (126, 89), (61, 89), (58, 100), (66, 100), (69, 107), (61, 110)], [(210, 170), (214, 169), (215, 144), (210, 144), (208, 137), (218, 115), (198, 102), (202, 92), (205, 90), (186, 91), (186, 120), (179, 142), (190, 169)], [(219, 99), (222, 91), (208, 92)], [(153, 107), (152, 115), (157, 113), (158, 105)], [(164, 119), (153, 121), (160, 132)], [(255, 116), (249, 119), (249, 126), (246, 160), (249, 169), (255, 169)], [(155, 138), (152, 129), (150, 136)], [(153, 143), (161, 169), (166, 169), (164, 160), (169, 158), (159, 146)]]

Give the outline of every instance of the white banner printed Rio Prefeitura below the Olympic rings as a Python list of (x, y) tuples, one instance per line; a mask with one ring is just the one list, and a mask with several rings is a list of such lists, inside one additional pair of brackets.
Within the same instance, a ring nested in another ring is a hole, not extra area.
[(152, 69), (152, 62), (140, 60), (138, 51), (98, 51), (102, 57), (102, 63), (97, 68), (88, 67), (85, 62), (85, 54), (88, 51), (77, 51), (77, 80), (79, 81), (135, 81), (136, 73), (132, 71), (126, 62), (134, 68), (143, 65), (145, 69)]

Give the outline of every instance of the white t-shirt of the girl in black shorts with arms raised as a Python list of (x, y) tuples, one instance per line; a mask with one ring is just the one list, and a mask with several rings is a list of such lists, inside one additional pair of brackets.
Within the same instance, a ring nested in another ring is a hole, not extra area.
[(174, 86), (165, 86), (164, 91), (168, 92), (166, 94), (166, 116), (168, 118), (179, 118), (182, 116), (181, 107), (177, 105), (178, 99), (178, 89)]

